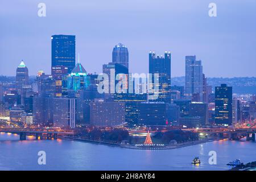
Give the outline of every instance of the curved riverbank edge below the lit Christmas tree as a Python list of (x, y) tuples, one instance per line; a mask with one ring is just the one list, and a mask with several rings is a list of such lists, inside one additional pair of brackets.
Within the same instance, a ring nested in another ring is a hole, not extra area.
[(214, 138), (214, 139), (204, 139), (204, 140), (197, 140), (197, 141), (192, 141), (192, 142), (184, 142), (184, 143), (178, 143), (175, 146), (168, 146), (165, 145), (164, 147), (152, 147), (152, 148), (142, 148), (142, 147), (137, 147), (135, 145), (131, 144), (119, 144), (119, 143), (111, 143), (111, 142), (104, 142), (104, 141), (98, 141), (98, 140), (88, 140), (88, 139), (81, 139), (81, 138), (60, 138), (63, 140), (71, 140), (71, 141), (76, 141), (76, 142), (85, 142), (85, 143), (92, 143), (92, 144), (102, 144), (105, 146), (112, 146), (112, 147), (121, 147), (121, 148), (129, 148), (129, 149), (136, 149), (136, 150), (171, 150), (175, 148), (181, 148), (181, 147), (187, 147), (187, 146), (193, 146), (196, 144), (201, 144), (201, 143), (208, 143), (208, 142), (213, 142), (216, 140), (222, 140), (224, 138)]

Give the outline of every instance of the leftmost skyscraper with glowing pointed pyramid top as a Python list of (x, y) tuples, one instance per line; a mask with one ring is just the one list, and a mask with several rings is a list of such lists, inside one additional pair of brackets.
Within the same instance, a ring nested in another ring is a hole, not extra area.
[(22, 60), (16, 69), (16, 89), (21, 90), (24, 85), (28, 85), (28, 69)]

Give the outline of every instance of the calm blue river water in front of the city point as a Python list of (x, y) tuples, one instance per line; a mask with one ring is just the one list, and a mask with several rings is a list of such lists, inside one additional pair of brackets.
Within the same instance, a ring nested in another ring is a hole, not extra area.
[[(32, 137), (28, 137), (32, 139)], [(38, 164), (38, 152), (46, 152), (46, 165)], [(209, 151), (217, 152), (217, 164), (208, 163)], [(200, 166), (192, 166), (195, 156)], [(173, 150), (131, 150), (68, 140), (19, 140), (0, 133), (0, 170), (226, 170), (226, 163), (256, 160), (256, 143), (219, 140)]]

